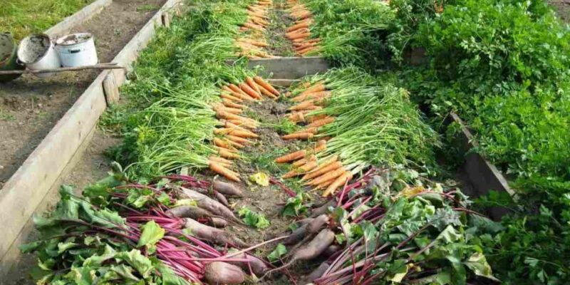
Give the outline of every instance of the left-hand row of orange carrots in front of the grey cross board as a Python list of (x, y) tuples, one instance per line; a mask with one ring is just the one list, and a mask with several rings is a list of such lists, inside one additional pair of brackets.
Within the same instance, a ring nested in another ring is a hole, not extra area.
[(219, 156), (209, 157), (210, 170), (229, 180), (240, 181), (237, 172), (231, 170), (232, 160), (240, 158), (239, 150), (251, 143), (250, 138), (258, 138), (258, 135), (254, 133), (258, 123), (241, 115), (246, 108), (242, 103), (261, 100), (264, 95), (276, 99), (279, 98), (279, 90), (259, 76), (246, 77), (245, 81), (239, 85), (222, 86), (219, 94), (222, 103), (212, 105), (223, 128), (214, 130), (217, 138), (214, 138), (213, 142)]

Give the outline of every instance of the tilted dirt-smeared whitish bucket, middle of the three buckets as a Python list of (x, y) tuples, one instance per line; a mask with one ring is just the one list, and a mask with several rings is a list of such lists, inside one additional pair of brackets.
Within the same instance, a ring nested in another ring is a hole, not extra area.
[[(18, 59), (30, 70), (61, 67), (58, 53), (53, 48), (49, 36), (44, 33), (36, 33), (24, 38), (18, 48)], [(53, 74), (36, 73), (35, 75), (39, 78), (46, 78)]]

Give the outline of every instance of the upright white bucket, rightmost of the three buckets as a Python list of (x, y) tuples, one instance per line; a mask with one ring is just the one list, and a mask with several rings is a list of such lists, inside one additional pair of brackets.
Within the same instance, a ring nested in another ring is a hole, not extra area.
[(58, 38), (56, 50), (66, 67), (93, 66), (98, 62), (95, 42), (90, 33), (73, 33)]

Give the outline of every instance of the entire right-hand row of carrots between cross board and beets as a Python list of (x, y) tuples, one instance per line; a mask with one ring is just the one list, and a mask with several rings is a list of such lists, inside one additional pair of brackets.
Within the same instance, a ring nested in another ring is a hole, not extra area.
[[(331, 91), (326, 90), (323, 81), (316, 83), (306, 82), (301, 85), (303, 92), (291, 98), (291, 101), (298, 103), (289, 108), (289, 120), (293, 123), (308, 123), (304, 130), (296, 133), (285, 135), (285, 139), (311, 139), (319, 128), (333, 123), (335, 117), (321, 114), (305, 116), (314, 110), (320, 110), (323, 100), (331, 96)], [(328, 157), (328, 159), (318, 162), (316, 154), (326, 150), (326, 141), (318, 140), (316, 147), (308, 150), (299, 150), (291, 152), (288, 155), (278, 157), (276, 163), (291, 163), (292, 170), (283, 175), (283, 178), (291, 178), (301, 176), (301, 182), (304, 185), (312, 187), (314, 191), (322, 190), (323, 197), (333, 195), (338, 188), (342, 187), (346, 182), (352, 179), (352, 173), (347, 171), (342, 162), (338, 159), (338, 155)]]

